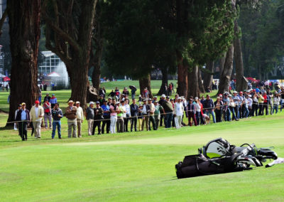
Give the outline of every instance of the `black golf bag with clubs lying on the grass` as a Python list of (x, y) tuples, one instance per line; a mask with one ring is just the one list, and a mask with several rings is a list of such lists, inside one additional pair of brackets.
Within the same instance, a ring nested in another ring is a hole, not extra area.
[(198, 151), (199, 154), (185, 156), (175, 165), (178, 179), (249, 170), (252, 169), (250, 166), (263, 166), (261, 162), (266, 159), (277, 159), (271, 149), (257, 149), (255, 144), (236, 147), (222, 138), (210, 141)]

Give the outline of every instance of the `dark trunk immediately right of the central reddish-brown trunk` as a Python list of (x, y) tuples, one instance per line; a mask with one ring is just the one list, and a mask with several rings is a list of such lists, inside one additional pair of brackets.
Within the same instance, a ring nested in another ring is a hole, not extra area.
[(188, 79), (188, 93), (187, 93), (187, 99), (189, 99), (190, 96), (194, 97), (200, 97), (200, 87), (198, 85), (198, 67), (195, 66), (191, 68), (191, 70), (187, 73), (187, 79)]

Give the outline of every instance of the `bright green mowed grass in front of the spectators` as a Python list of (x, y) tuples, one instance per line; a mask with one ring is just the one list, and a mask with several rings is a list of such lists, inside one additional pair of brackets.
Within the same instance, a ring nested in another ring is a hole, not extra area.
[[(65, 95), (66, 92), (66, 95)], [(67, 100), (67, 91), (56, 92)], [(64, 95), (63, 95), (64, 94)], [(0, 99), (2, 94), (0, 94)], [(7, 115), (0, 114), (0, 127)], [(217, 137), (231, 144), (274, 146), (284, 156), (284, 112), (239, 122), (151, 132), (21, 142), (0, 130), (0, 201), (283, 201), (284, 164), (231, 174), (176, 179), (175, 164)], [(57, 137), (56, 137), (57, 138)]]

